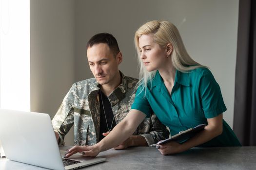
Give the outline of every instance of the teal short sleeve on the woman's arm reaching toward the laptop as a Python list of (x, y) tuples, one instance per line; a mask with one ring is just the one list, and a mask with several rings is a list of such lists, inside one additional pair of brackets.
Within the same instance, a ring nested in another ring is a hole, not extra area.
[(132, 104), (131, 109), (136, 109), (141, 112), (143, 112), (146, 115), (146, 118), (150, 118), (150, 115), (152, 113), (152, 109), (150, 107), (150, 104), (145, 96), (145, 88), (141, 90), (141, 85), (138, 87), (134, 102)]

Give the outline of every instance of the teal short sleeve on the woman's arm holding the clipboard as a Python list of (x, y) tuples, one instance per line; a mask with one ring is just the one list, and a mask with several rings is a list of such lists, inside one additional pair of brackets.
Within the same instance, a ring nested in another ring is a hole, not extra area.
[(202, 109), (206, 118), (214, 118), (227, 110), (219, 85), (210, 70), (202, 70), (199, 93)]

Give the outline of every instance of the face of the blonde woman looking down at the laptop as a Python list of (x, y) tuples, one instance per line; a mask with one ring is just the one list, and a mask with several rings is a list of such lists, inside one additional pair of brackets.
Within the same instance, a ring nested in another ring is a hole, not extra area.
[(154, 35), (141, 35), (138, 39), (140, 59), (143, 61), (147, 71), (158, 70), (167, 62), (166, 48), (161, 48), (154, 42)]

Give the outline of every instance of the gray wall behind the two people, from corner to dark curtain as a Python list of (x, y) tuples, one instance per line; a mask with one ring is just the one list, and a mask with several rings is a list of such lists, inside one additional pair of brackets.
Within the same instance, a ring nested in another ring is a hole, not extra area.
[(116, 36), (120, 69), (138, 77), (134, 33), (154, 19), (173, 22), (191, 57), (211, 68), (227, 106), (224, 119), (233, 127), (238, 0), (76, 0), (76, 81), (93, 76), (85, 45), (99, 32)]

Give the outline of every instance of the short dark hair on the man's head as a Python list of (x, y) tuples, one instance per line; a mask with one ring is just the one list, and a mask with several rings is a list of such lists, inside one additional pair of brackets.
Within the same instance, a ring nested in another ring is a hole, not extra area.
[(99, 33), (93, 35), (91, 39), (87, 42), (86, 47), (88, 49), (89, 47), (100, 43), (106, 43), (110, 50), (113, 52), (114, 57), (116, 57), (118, 52), (120, 52), (117, 39), (112, 34), (108, 33)]

